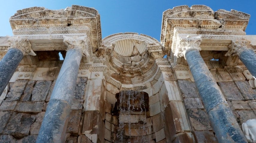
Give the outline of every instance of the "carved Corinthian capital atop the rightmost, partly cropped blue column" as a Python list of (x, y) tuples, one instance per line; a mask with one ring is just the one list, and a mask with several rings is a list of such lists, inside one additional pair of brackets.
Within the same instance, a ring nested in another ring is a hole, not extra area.
[(228, 46), (229, 50), (225, 56), (239, 56), (245, 49), (248, 49), (251, 42), (245, 39), (235, 39)]

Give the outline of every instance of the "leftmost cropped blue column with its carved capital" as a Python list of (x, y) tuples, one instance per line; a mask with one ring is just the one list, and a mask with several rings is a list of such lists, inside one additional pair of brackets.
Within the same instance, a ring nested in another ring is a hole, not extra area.
[(3, 93), (24, 55), (36, 55), (27, 38), (10, 37), (8, 43), (10, 48), (0, 60), (0, 94)]

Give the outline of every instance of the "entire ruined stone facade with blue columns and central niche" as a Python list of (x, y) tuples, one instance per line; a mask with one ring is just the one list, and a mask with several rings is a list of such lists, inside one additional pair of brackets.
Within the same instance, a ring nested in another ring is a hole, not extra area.
[(159, 42), (132, 32), (102, 39), (89, 7), (18, 10), (13, 37), (0, 38), (0, 142), (255, 142), (242, 131), (256, 118), (249, 18), (174, 7)]

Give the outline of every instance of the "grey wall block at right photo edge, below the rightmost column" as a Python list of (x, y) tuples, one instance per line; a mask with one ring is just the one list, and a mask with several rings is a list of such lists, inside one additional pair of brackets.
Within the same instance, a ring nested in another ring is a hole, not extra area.
[(246, 100), (255, 100), (256, 92), (249, 85), (248, 81), (235, 81)]

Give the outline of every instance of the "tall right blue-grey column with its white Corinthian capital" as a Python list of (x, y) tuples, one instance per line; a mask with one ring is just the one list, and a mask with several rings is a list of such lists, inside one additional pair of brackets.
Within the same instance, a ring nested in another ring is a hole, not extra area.
[(201, 37), (180, 38), (177, 57), (184, 56), (219, 143), (246, 143), (236, 118), (200, 55)]

